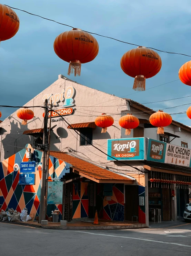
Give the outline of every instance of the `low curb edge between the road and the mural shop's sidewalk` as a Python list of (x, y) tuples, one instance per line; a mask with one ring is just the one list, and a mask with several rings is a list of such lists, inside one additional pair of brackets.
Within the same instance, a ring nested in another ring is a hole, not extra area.
[(32, 227), (32, 228), (43, 228), (43, 229), (54, 229), (54, 230), (116, 230), (116, 229), (139, 229), (139, 228), (145, 228), (146, 224), (132, 224), (129, 226), (92, 226), (92, 227), (87, 227), (87, 226), (82, 226), (82, 227), (64, 227), (64, 226), (44, 226), (44, 225), (36, 225), (36, 224), (29, 224), (26, 222), (22, 221), (1, 221), (0, 223), (7, 223), (7, 224), (16, 224), (20, 226), (27, 226), (27, 227)]

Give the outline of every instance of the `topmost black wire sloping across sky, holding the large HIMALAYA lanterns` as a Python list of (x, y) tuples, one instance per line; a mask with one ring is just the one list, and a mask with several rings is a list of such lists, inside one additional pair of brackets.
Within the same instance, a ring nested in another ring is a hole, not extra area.
[[(53, 19), (44, 18), (44, 17), (42, 17), (42, 16), (40, 16), (40, 15), (32, 14), (32, 13), (30, 13), (30, 12), (28, 12), (28, 11), (24, 11), (24, 10), (21, 10), (21, 9), (18, 9), (18, 8), (14, 8), (14, 7), (11, 7), (11, 6), (9, 6), (9, 5), (6, 5), (6, 6), (12, 8), (12, 9), (15, 9), (15, 10), (19, 10), (19, 11), (26, 12), (27, 14), (30, 14), (30, 15), (33, 15), (33, 16), (40, 17), (40, 18), (42, 18), (42, 19), (47, 19), (47, 20), (56, 22), (56, 23), (61, 24), (61, 25), (64, 25), (64, 26), (74, 28), (74, 27), (72, 27), (72, 26), (70, 26), (70, 25), (60, 23), (60, 22), (58, 22), (58, 21), (56, 21), (56, 20), (53, 20)], [(124, 44), (130, 44), (130, 45), (134, 45), (134, 46), (141, 46), (141, 45), (138, 45), (138, 44), (133, 44), (133, 43), (121, 41), (121, 40), (119, 40), (119, 39), (116, 39), (116, 38), (113, 38), (113, 37), (110, 37), (110, 36), (103, 36), (103, 35), (100, 35), (100, 34), (97, 34), (97, 33), (93, 33), (93, 32), (89, 32), (89, 31), (86, 31), (86, 30), (83, 30), (83, 31), (84, 31), (84, 32), (87, 32), (87, 33), (90, 33), (90, 34), (93, 34), (93, 35), (97, 35), (97, 36), (109, 38), (109, 39), (112, 39), (112, 40), (115, 40), (115, 41), (118, 41), (118, 42), (121, 42), (121, 43), (124, 43)], [(187, 55), (187, 54), (183, 54), (183, 53), (176, 53), (176, 52), (163, 51), (163, 50), (159, 50), (159, 49), (156, 49), (156, 48), (153, 48), (153, 47), (147, 47), (147, 48), (150, 48), (150, 49), (153, 49), (153, 50), (159, 51), (159, 52), (165, 52), (165, 53), (170, 53), (170, 54), (179, 54), (179, 55), (184, 55), (184, 56), (191, 57), (191, 55)]]

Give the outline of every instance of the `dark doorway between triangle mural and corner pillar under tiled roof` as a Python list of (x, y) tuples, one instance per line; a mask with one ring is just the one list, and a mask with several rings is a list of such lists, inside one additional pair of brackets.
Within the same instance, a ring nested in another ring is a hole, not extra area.
[[(125, 220), (132, 221), (132, 216), (137, 216), (139, 221), (139, 196), (138, 186), (125, 186)], [(133, 220), (137, 220), (133, 218)]]

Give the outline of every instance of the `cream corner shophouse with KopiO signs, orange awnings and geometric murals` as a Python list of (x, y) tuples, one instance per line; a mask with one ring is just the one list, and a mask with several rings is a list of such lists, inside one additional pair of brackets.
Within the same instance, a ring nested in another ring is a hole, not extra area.
[[(181, 163), (179, 163), (179, 159), (176, 161), (177, 157), (175, 157), (172, 162), (172, 159), (169, 158), (169, 160), (166, 156), (168, 143), (184, 148), (191, 147), (190, 127), (173, 121), (170, 126), (164, 129), (165, 134), (160, 137), (157, 135), (157, 128), (149, 123), (149, 116), (154, 112), (152, 109), (133, 100), (119, 98), (80, 85), (62, 75), (59, 75), (57, 81), (31, 99), (25, 106), (41, 105), (46, 98), (49, 99), (49, 103), (52, 99), (52, 103), (55, 105), (54, 109), (67, 109), (65, 112), (61, 111), (60, 113), (68, 114), (65, 117), (72, 128), (79, 131), (84, 138), (98, 149), (108, 153), (108, 155), (115, 156), (114, 142), (112, 140), (115, 141), (115, 144), (120, 144), (121, 138), (123, 138), (121, 141), (123, 144), (135, 141), (139, 145), (139, 148), (136, 148), (137, 145), (135, 147), (137, 152), (133, 158), (134, 160), (132, 158), (127, 159), (127, 157), (125, 159), (117, 158), (121, 160), (121, 162), (117, 162), (110, 157), (107, 158), (104, 153), (93, 148), (83, 138), (79, 138), (59, 116), (52, 116), (52, 127), (56, 125), (51, 131), (51, 157), (56, 159), (52, 161), (54, 164), (56, 161), (59, 165), (64, 162), (66, 166), (69, 165), (70, 167), (68, 167), (69, 169), (67, 168), (67, 171), (61, 171), (57, 175), (56, 164), (54, 165), (51, 161), (53, 167), (51, 166), (50, 175), (52, 177), (61, 175), (60, 177), (70, 180), (68, 182), (70, 184), (68, 185), (68, 197), (66, 198), (68, 208), (65, 209), (68, 220), (84, 217), (92, 218), (96, 209), (102, 219), (131, 221), (132, 216), (137, 216), (138, 221), (146, 223), (147, 226), (149, 216), (150, 218), (152, 217), (150, 215), (151, 209), (161, 209), (162, 220), (177, 220), (177, 216), (183, 217), (185, 204), (189, 200), (190, 190), (188, 186), (155, 183), (151, 187), (151, 183), (148, 180), (157, 178), (190, 182), (190, 156), (189, 159), (186, 159), (187, 161), (184, 161), (184, 164), (182, 159)], [(16, 112), (1, 123), (1, 207), (5, 207), (5, 203), (6, 207), (11, 207), (11, 202), (15, 201), (15, 198), (12, 199), (12, 197), (14, 197), (13, 195), (16, 197), (17, 194), (15, 189), (20, 189), (21, 193), (21, 187), (15, 184), (18, 181), (15, 183), (14, 179), (11, 181), (11, 175), (14, 177), (16, 174), (12, 169), (12, 164), (9, 164), (10, 158), (14, 159), (15, 162), (17, 152), (24, 148), (26, 144), (33, 144), (35, 135), (42, 135), (43, 110), (34, 108), (33, 111), (35, 118), (29, 121), (27, 126), (21, 125), (21, 120), (18, 119)], [(147, 115), (143, 117), (140, 113), (142, 111), (147, 111)], [(108, 128), (105, 134), (101, 134), (101, 129), (94, 124), (95, 116), (101, 113), (118, 114), (113, 116), (114, 124)], [(129, 136), (124, 135), (125, 130), (118, 124), (119, 118), (126, 113), (137, 113), (135, 115), (140, 121), (139, 127), (132, 130)], [(149, 151), (147, 153), (148, 150), (152, 149), (151, 147), (154, 143), (158, 146), (163, 145), (160, 159), (152, 157), (156, 156), (155, 153), (157, 152), (152, 153)], [(39, 152), (38, 154), (40, 154)], [(120, 154), (119, 151), (118, 153)], [(38, 161), (40, 161), (40, 158)], [(133, 166), (140, 171), (133, 168)], [(37, 177), (38, 182), (36, 180), (35, 185), (22, 187), (23, 196), (21, 195), (22, 205), (19, 206), (20, 208), (23, 205), (28, 206), (30, 202), (27, 199), (25, 201), (26, 195), (30, 195), (26, 193), (34, 193), (29, 196), (30, 198), (33, 195), (32, 198), (34, 198), (31, 201), (31, 203), (33, 202), (31, 207), (36, 204), (34, 202), (35, 198), (39, 198), (38, 184), (40, 182), (40, 173), (36, 172)], [(7, 180), (10, 182), (9, 185)], [(112, 185), (109, 186), (108, 184)], [(34, 186), (36, 187), (34, 188)], [(12, 191), (15, 193), (12, 193)], [(175, 196), (172, 196), (173, 193)], [(16, 202), (19, 205), (18, 200), (20, 201), (21, 198), (18, 198)], [(88, 203), (83, 200), (88, 200)], [(16, 208), (15, 205), (13, 208)], [(31, 213), (33, 216), (38, 214), (38, 207), (35, 207), (35, 209), (36, 213)], [(136, 217), (133, 220), (136, 221)]]

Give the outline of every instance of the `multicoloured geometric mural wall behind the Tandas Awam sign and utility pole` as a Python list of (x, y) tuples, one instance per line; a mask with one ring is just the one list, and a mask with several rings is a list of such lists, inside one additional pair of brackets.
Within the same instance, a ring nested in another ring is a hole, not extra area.
[[(26, 145), (29, 147), (29, 145)], [(0, 211), (13, 208), (21, 212), (23, 208), (28, 209), (28, 214), (34, 219), (39, 215), (40, 205), (40, 180), (41, 172), (35, 172), (35, 185), (19, 185), (19, 171), (14, 171), (14, 164), (28, 161), (26, 149), (22, 149), (13, 156), (0, 163)], [(32, 149), (32, 157), (36, 162), (41, 162), (42, 152)], [(61, 178), (65, 173), (69, 173), (70, 165), (60, 159), (50, 156), (49, 177)], [(51, 216), (51, 211), (62, 210), (62, 205), (48, 205), (47, 215)]]

